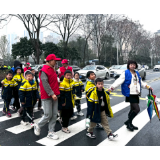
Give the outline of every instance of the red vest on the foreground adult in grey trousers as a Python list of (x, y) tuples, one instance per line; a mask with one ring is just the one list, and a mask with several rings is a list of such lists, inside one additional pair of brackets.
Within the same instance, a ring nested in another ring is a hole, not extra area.
[(51, 98), (51, 96), (48, 96), (48, 94), (46, 93), (46, 91), (43, 87), (42, 80), (41, 80), (42, 71), (45, 72), (46, 75), (48, 76), (48, 83), (49, 83), (51, 89), (53, 90), (54, 94), (60, 95), (56, 72), (54, 71), (54, 69), (52, 67), (50, 67), (48, 65), (44, 65), (39, 73), (41, 99)]

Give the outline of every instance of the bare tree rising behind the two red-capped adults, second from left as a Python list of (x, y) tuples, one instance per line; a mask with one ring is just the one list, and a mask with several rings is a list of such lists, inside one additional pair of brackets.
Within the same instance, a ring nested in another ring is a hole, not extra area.
[(56, 14), (54, 18), (57, 19), (57, 22), (54, 23), (54, 26), (47, 27), (49, 30), (57, 33), (62, 37), (63, 41), (63, 57), (66, 55), (66, 48), (68, 46), (69, 38), (77, 31), (81, 25), (82, 14)]

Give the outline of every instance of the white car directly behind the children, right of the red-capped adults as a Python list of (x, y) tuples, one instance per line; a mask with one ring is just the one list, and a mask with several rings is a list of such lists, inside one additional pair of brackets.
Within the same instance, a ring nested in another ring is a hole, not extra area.
[(86, 74), (88, 71), (93, 71), (96, 74), (96, 78), (108, 79), (110, 77), (110, 71), (101, 65), (87, 65), (83, 69), (77, 71), (80, 74), (81, 80), (86, 80)]

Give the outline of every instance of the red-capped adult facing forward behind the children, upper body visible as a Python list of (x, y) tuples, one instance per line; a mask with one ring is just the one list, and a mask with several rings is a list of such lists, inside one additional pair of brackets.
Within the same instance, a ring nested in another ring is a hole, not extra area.
[(70, 70), (72, 72), (72, 78), (73, 78), (74, 72), (73, 72), (72, 67), (68, 66), (68, 60), (63, 59), (61, 63), (63, 66), (58, 69), (59, 78), (61, 78), (61, 76), (64, 75), (66, 70)]

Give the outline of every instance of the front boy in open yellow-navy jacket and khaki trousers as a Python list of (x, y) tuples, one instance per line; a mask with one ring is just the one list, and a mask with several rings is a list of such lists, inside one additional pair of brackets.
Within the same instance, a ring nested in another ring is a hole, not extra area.
[(108, 139), (112, 140), (118, 135), (112, 134), (107, 120), (107, 116), (113, 117), (113, 112), (110, 106), (110, 98), (103, 88), (103, 79), (97, 78), (95, 83), (96, 87), (93, 89), (88, 100), (88, 115), (91, 123), (86, 135), (90, 138), (96, 138), (93, 134), (93, 129), (96, 126), (96, 123), (101, 123), (108, 135)]

